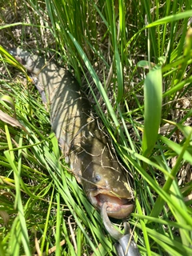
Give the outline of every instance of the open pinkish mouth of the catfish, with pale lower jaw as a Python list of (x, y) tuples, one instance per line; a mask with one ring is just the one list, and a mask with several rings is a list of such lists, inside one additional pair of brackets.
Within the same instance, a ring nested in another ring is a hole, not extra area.
[(134, 204), (132, 200), (126, 198), (118, 198), (109, 191), (91, 191), (90, 202), (102, 210), (102, 206), (105, 203), (106, 213), (112, 218), (126, 218), (134, 210)]

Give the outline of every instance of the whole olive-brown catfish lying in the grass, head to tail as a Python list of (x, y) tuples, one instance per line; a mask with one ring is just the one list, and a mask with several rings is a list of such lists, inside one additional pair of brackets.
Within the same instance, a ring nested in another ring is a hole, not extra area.
[(78, 82), (69, 71), (54, 62), (45, 63), (38, 55), (20, 49), (10, 53), (38, 78), (35, 84), (50, 108), (50, 123), (62, 154), (90, 202), (98, 210), (106, 202), (110, 217), (126, 218), (134, 209), (126, 172)]

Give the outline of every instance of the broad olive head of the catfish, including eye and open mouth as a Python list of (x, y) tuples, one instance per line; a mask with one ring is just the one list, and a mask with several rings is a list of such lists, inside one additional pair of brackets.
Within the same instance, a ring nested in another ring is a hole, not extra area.
[(93, 151), (82, 161), (82, 186), (86, 196), (98, 210), (106, 202), (108, 216), (126, 218), (134, 210), (126, 170), (106, 146), (102, 148), (102, 154), (93, 154), (96, 153)]

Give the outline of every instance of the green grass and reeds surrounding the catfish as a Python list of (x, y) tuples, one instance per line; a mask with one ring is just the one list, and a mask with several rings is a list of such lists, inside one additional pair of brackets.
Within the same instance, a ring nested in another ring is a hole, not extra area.
[(133, 178), (129, 223), (140, 253), (192, 255), (192, 2), (0, 6), (0, 254), (115, 254), (37, 90), (6, 52), (21, 46), (54, 57), (86, 90)]

